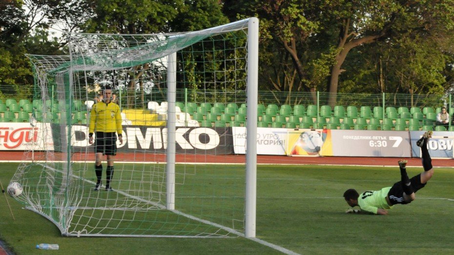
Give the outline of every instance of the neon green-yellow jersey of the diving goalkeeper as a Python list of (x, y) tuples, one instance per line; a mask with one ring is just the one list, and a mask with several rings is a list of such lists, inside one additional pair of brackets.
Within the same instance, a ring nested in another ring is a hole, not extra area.
[(359, 194), (358, 205), (361, 211), (377, 214), (378, 208), (381, 209), (391, 209), (392, 206), (386, 202), (386, 197), (390, 192), (391, 187), (386, 187), (378, 191), (365, 191)]

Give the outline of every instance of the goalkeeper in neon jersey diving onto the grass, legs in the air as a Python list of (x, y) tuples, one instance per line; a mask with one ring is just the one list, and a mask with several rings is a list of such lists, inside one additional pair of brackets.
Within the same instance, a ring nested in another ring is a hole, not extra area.
[(399, 160), (401, 180), (392, 187), (386, 187), (379, 191), (366, 191), (358, 194), (356, 190), (349, 189), (344, 193), (344, 199), (351, 207), (359, 206), (360, 210), (348, 209), (346, 213), (387, 215), (388, 209), (395, 204), (411, 203), (418, 190), (422, 189), (433, 176), (432, 159), (427, 149), (427, 142), (432, 137), (432, 131), (424, 133), (423, 137), (416, 142), (421, 147), (422, 166), (424, 172), (409, 179), (405, 169), (407, 160)]

